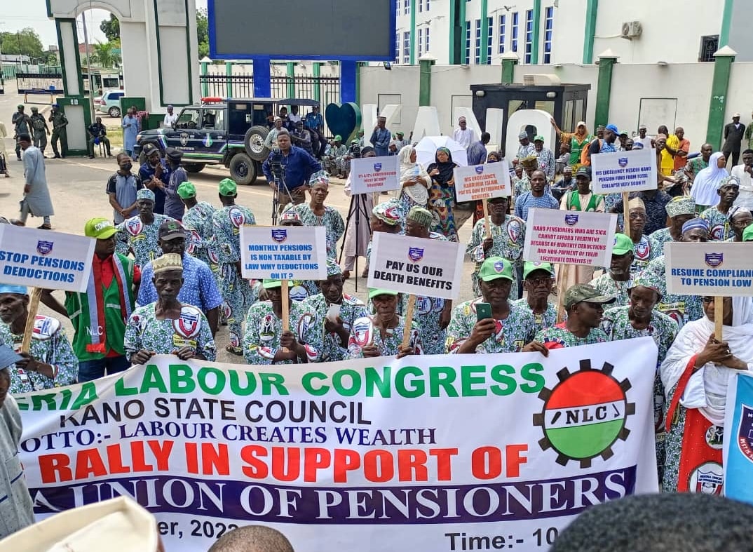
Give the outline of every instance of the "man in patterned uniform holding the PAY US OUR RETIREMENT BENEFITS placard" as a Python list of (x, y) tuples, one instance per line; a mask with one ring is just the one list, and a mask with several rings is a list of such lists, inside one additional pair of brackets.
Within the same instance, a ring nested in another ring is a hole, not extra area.
[[(468, 246), (465, 247), (466, 255), (469, 255), (476, 262), (476, 267), (471, 275), (473, 292), (476, 297), (481, 295), (478, 271), (483, 264), (483, 260), (488, 257), (505, 258), (517, 270), (518, 267), (523, 267), (523, 245), (526, 242), (526, 223), (521, 218), (507, 214), (510, 208), (509, 197), (492, 197), (486, 203), (489, 206), (489, 228), (492, 236), (486, 237), (486, 224), (482, 218), (474, 225), (471, 231), (471, 239), (468, 240)], [(513, 299), (520, 297), (519, 285), (520, 282), (517, 281), (517, 278), (514, 279), (510, 291), (510, 297)]]

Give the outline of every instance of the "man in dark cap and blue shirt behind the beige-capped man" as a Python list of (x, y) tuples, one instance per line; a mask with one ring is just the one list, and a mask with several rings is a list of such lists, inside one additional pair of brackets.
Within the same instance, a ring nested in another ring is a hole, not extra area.
[[(183, 285), (178, 294), (181, 303), (197, 306), (209, 321), (212, 335), (217, 333), (219, 310), (222, 305), (222, 295), (217, 288), (215, 275), (204, 261), (191, 255), (186, 255), (186, 231), (178, 221), (164, 221), (160, 226), (160, 249), (162, 254), (175, 253), (181, 256), (183, 266)], [(139, 288), (139, 306), (154, 303), (157, 300), (157, 289), (152, 283), (152, 267), (154, 262), (142, 267), (143, 284)]]

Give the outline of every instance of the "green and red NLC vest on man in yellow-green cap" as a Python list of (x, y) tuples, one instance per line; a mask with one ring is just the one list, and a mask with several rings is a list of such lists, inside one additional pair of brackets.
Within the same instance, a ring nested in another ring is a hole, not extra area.
[(66, 310), (75, 335), (73, 351), (79, 361), (103, 358), (108, 350), (124, 355), (126, 322), (133, 312), (133, 260), (112, 255), (114, 278), (105, 288), (100, 274), (91, 271), (86, 293), (66, 293)]

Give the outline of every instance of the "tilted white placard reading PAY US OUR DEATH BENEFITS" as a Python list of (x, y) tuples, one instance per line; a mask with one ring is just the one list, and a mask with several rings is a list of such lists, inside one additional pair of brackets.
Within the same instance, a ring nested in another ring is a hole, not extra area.
[(459, 243), (374, 232), (369, 288), (457, 299), (462, 276)]

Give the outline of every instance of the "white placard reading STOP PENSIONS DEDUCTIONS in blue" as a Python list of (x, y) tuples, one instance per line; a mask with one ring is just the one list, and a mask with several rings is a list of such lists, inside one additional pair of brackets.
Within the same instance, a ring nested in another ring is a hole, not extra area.
[(87, 291), (96, 240), (0, 224), (0, 282)]

